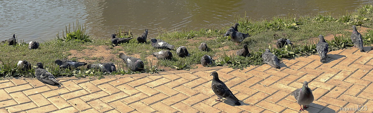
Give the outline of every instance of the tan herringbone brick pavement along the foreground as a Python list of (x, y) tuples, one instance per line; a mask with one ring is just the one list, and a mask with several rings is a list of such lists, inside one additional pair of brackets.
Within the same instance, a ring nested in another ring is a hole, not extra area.
[[(60, 88), (36, 79), (0, 80), (0, 113), (297, 113), (299, 105), (290, 93), (303, 81), (310, 82), (315, 97), (305, 112), (343, 113), (341, 107), (360, 105), (369, 110), (361, 112), (372, 113), (372, 53), (356, 48), (333, 51), (325, 64), (317, 55), (285, 59), (280, 70), (265, 64), (244, 70), (210, 67), (101, 80), (61, 78)], [(214, 101), (212, 71), (244, 105)]]

